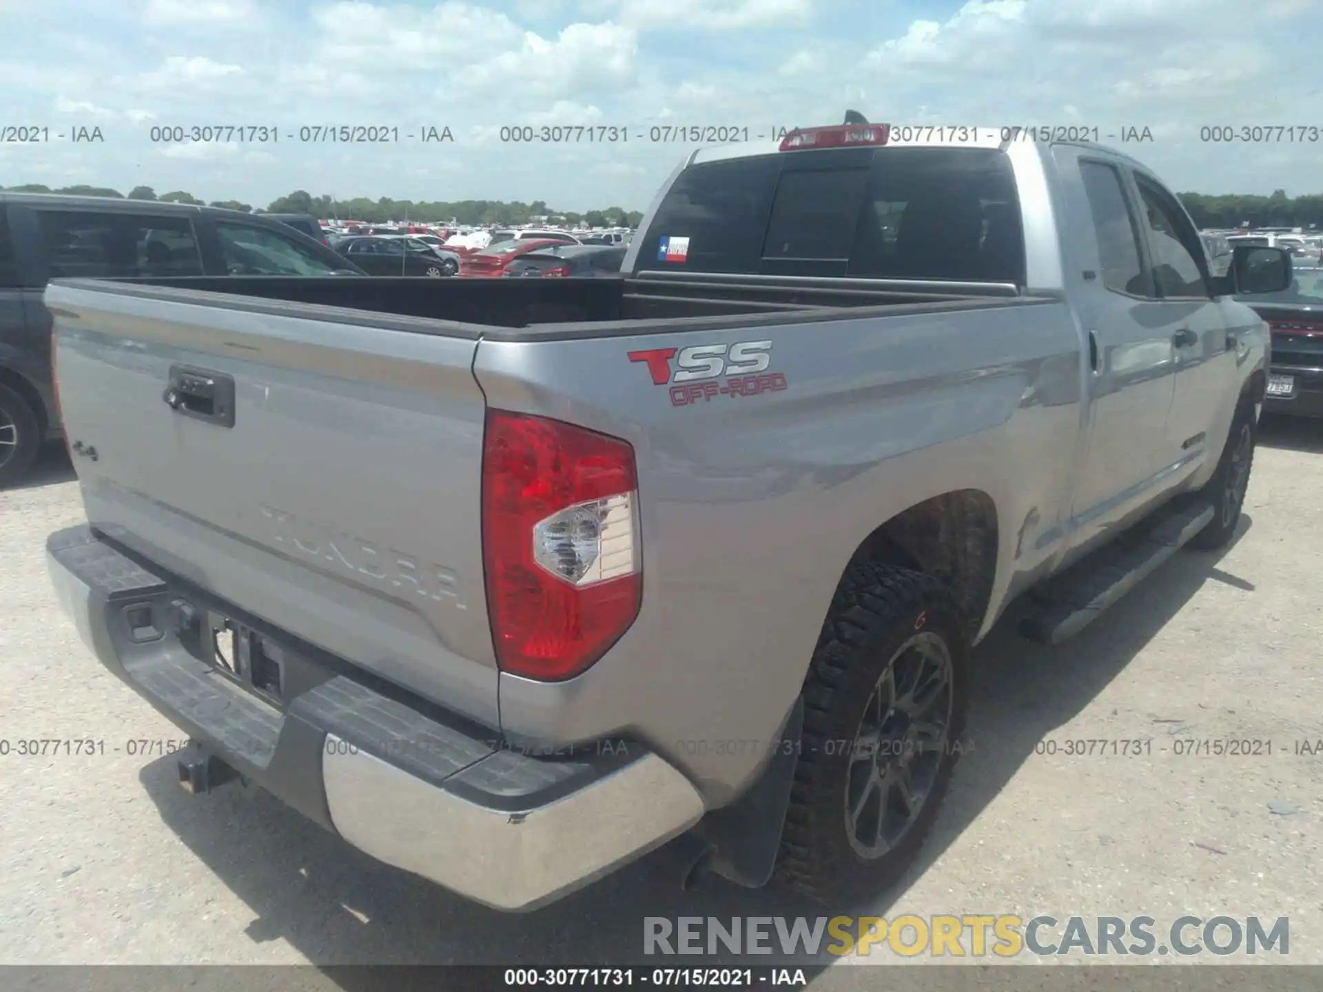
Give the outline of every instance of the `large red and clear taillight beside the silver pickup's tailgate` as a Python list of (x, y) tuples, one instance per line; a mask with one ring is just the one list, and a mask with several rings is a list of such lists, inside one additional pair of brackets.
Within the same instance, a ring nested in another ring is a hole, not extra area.
[(488, 410), (482, 503), (496, 663), (538, 681), (579, 675), (639, 612), (634, 448), (560, 421)]

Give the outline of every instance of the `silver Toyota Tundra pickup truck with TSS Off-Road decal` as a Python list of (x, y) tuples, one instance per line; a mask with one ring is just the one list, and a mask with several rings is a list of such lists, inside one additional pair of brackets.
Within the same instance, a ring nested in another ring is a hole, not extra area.
[(1139, 163), (880, 124), (691, 153), (617, 279), (56, 280), (97, 657), (381, 861), (527, 910), (665, 847), (909, 862), (970, 651), (1237, 525), (1269, 336)]

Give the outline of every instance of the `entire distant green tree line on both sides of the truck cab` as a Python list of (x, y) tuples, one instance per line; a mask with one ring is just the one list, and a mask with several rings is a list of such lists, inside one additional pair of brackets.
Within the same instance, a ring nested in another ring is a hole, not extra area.
[[(41, 184), (9, 186), (12, 193), (64, 193), (66, 196), (108, 196), (126, 198), (119, 190), (105, 186), (62, 186), (50, 189)], [(1200, 227), (1323, 227), (1323, 193), (1289, 197), (1285, 189), (1275, 189), (1270, 196), (1258, 193), (1179, 193), (1191, 218)], [(253, 213), (251, 204), (238, 200), (213, 200), (209, 204), (192, 193), (176, 189), (160, 196), (151, 186), (134, 186), (128, 200), (157, 200), (169, 204), (196, 204), (198, 206), (222, 206), (228, 210)], [(262, 210), (258, 209), (261, 213)], [(314, 217), (329, 220), (335, 217), (385, 224), (389, 221), (418, 221), (419, 224), (456, 222), (463, 225), (484, 224), (534, 224), (538, 218), (564, 224), (586, 224), (590, 227), (636, 227), (643, 214), (626, 210), (622, 206), (609, 206), (605, 210), (553, 210), (545, 201), (531, 204), (503, 200), (460, 200), (456, 202), (413, 201), (413, 200), (335, 200), (329, 196), (312, 196), (307, 190), (295, 189), (287, 196), (271, 201), (266, 213), (310, 213)]]

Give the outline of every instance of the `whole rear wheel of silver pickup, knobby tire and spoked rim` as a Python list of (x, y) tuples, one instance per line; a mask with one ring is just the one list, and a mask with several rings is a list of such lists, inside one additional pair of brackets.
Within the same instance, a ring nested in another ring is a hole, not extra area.
[(968, 632), (930, 575), (851, 566), (804, 682), (804, 731), (778, 878), (835, 901), (913, 864), (959, 755)]

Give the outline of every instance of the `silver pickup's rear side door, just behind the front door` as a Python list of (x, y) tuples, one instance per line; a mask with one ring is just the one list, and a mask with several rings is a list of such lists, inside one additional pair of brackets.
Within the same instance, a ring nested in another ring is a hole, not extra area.
[(1072, 544), (1089, 544), (1159, 484), (1174, 392), (1174, 344), (1123, 165), (1056, 145), (1066, 290), (1086, 336), (1091, 398), (1076, 474)]

